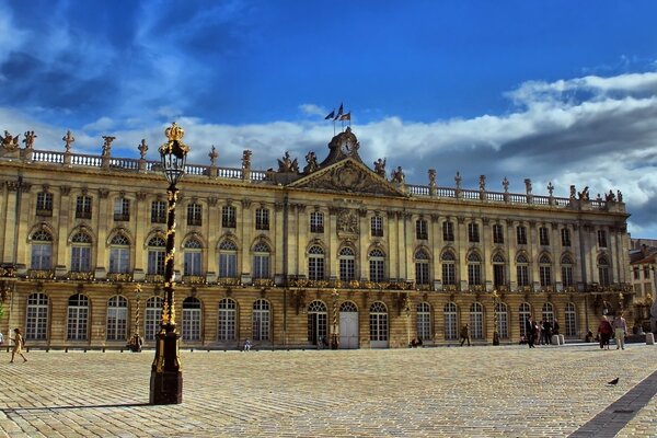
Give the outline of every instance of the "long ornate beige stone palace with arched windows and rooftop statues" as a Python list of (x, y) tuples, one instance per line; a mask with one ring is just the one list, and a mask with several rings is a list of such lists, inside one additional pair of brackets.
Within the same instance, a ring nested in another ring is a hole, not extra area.
[[(161, 315), (166, 183), (159, 164), (25, 148), (0, 150), (0, 330), (31, 346), (152, 345)], [(192, 145), (194, 148), (194, 146)], [(350, 128), (299, 171), (188, 165), (178, 184), (175, 310), (183, 346), (309, 346), (338, 333), (341, 348), (517, 343), (528, 315), (557, 319), (583, 338), (599, 314), (632, 296), (625, 205), (486, 187), (410, 185), (359, 157)], [(141, 292), (137, 293), (137, 285)], [(493, 291), (497, 291), (497, 299)], [(624, 293), (621, 296), (620, 293)]]

